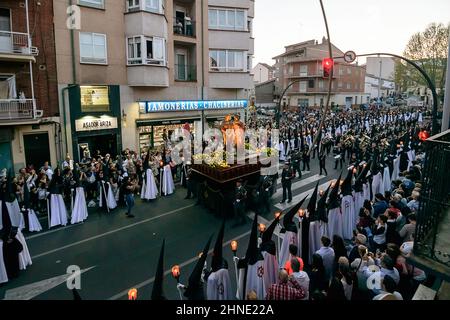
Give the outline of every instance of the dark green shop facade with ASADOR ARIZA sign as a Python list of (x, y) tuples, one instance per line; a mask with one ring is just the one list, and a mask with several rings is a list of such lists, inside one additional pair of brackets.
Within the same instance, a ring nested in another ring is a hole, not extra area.
[(73, 159), (84, 153), (115, 157), (122, 150), (120, 87), (71, 86), (68, 89)]

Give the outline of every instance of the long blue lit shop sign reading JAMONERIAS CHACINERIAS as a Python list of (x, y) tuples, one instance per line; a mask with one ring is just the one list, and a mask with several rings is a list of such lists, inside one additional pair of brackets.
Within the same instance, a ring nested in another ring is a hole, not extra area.
[(141, 113), (245, 109), (247, 106), (247, 100), (139, 102)]

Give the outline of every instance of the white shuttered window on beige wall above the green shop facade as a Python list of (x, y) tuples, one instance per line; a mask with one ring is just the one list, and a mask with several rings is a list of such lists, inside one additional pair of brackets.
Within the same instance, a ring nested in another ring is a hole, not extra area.
[(108, 64), (105, 34), (80, 32), (80, 62)]

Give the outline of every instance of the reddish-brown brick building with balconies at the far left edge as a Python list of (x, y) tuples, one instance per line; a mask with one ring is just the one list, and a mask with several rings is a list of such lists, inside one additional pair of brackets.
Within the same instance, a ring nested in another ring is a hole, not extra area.
[(0, 170), (61, 156), (51, 1), (0, 2)]

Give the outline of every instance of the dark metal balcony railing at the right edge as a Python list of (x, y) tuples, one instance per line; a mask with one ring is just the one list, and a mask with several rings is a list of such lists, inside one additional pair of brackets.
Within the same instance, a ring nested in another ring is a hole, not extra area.
[(450, 130), (425, 142), (414, 254), (450, 267)]

